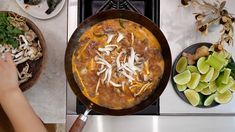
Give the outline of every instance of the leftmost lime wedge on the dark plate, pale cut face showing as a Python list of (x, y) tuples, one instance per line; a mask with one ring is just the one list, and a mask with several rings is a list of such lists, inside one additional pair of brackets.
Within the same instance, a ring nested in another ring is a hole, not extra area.
[(191, 72), (189, 70), (186, 70), (176, 76), (174, 76), (175, 83), (179, 85), (187, 84), (191, 80)]

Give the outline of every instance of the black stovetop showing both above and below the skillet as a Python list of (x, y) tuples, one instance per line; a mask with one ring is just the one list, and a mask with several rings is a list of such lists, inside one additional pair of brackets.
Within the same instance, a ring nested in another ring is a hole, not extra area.
[[(125, 9), (138, 12), (159, 26), (160, 0), (78, 0), (78, 24), (87, 17), (109, 9)], [(84, 113), (86, 107), (77, 99), (76, 112)], [(91, 115), (100, 115), (91, 111)], [(159, 115), (159, 99), (134, 115)]]

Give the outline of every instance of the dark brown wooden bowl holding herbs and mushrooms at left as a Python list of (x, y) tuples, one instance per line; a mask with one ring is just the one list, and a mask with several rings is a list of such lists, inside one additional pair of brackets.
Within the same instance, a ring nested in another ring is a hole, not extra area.
[[(2, 12), (12, 13), (17, 16), (21, 16), (15, 12), (12, 12), (12, 11), (0, 11), (0, 13), (2, 13)], [(23, 17), (23, 16), (21, 16), (21, 17)], [(42, 70), (45, 68), (46, 60), (47, 60), (47, 48), (46, 48), (45, 39), (44, 39), (41, 31), (39, 30), (39, 28), (28, 18), (26, 18), (26, 17), (23, 17), (23, 18), (26, 19), (26, 24), (28, 25), (28, 27), (30, 29), (32, 29), (35, 32), (35, 34), (37, 35), (38, 40), (40, 42), (40, 45), (42, 47), (42, 57), (41, 58), (39, 58), (38, 60), (34, 60), (34, 61), (28, 60), (22, 64), (17, 65), (17, 69), (19, 71), (21, 71), (23, 69), (23, 67), (25, 66), (25, 63), (29, 64), (29, 73), (32, 73), (32, 77), (28, 81), (20, 84), (20, 89), (22, 91), (26, 91), (27, 89), (31, 88), (37, 82), (37, 80), (39, 79), (39, 77), (42, 73)]]

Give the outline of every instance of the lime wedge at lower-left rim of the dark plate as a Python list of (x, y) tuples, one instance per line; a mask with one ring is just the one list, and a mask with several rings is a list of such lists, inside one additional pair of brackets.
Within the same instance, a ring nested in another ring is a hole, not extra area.
[(200, 96), (196, 91), (187, 89), (184, 94), (192, 106), (197, 106), (200, 103)]

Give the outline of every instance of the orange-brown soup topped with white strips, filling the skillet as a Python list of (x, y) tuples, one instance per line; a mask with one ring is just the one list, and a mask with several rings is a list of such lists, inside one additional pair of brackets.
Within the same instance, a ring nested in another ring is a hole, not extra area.
[(164, 71), (161, 47), (145, 27), (109, 19), (87, 29), (72, 58), (75, 79), (92, 102), (110, 109), (139, 104)]

